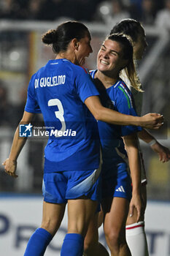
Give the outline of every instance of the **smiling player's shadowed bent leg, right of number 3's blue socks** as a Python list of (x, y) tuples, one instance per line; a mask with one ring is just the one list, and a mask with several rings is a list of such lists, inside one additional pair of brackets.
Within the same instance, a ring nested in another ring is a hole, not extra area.
[(98, 242), (98, 213), (90, 220), (84, 241), (84, 256), (109, 256), (107, 249)]

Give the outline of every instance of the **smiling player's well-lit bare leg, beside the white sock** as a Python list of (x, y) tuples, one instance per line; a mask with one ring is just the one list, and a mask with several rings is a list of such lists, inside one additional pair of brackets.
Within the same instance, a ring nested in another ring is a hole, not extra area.
[(104, 233), (112, 256), (131, 256), (125, 241), (125, 222), (129, 202), (125, 198), (106, 198), (104, 211)]

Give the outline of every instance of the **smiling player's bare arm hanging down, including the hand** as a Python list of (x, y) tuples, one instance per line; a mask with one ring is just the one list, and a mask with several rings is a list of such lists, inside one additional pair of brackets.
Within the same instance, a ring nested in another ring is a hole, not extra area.
[(136, 222), (139, 222), (139, 218), (142, 214), (142, 202), (141, 202), (141, 165), (139, 158), (138, 140), (136, 132), (131, 135), (123, 136), (125, 143), (125, 149), (128, 154), (128, 164), (131, 170), (132, 181), (132, 198), (130, 203), (130, 216), (134, 214), (134, 208), (137, 210)]

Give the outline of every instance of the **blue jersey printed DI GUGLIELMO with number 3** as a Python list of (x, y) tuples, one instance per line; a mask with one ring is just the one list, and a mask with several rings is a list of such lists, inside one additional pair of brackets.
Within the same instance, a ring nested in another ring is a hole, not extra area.
[(32, 76), (25, 110), (42, 113), (49, 130), (45, 173), (98, 167), (97, 123), (84, 104), (94, 95), (90, 75), (67, 59), (50, 60)]

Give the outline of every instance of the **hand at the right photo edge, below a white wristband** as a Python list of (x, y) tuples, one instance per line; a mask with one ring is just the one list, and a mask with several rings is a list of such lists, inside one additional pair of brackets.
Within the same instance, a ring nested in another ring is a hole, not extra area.
[(162, 146), (158, 141), (151, 146), (152, 150), (158, 154), (159, 160), (161, 162), (168, 162), (170, 159), (169, 148)]

